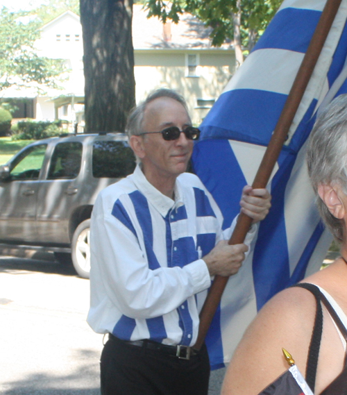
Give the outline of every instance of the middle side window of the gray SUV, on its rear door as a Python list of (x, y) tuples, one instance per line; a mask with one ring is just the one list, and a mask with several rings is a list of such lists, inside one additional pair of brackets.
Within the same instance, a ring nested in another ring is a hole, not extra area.
[(81, 170), (81, 142), (61, 142), (54, 149), (48, 179), (76, 178)]

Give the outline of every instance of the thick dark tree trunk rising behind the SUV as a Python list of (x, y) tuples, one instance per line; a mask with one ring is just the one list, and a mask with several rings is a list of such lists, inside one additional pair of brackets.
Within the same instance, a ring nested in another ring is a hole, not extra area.
[(133, 0), (81, 0), (85, 132), (124, 131), (135, 106)]

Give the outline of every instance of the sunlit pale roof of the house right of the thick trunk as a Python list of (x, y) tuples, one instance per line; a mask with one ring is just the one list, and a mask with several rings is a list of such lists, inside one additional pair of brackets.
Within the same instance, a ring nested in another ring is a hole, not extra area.
[[(210, 28), (189, 13), (180, 15), (178, 24), (162, 24), (158, 17), (147, 18), (142, 4), (133, 5), (134, 49), (210, 49)], [(222, 49), (230, 49), (223, 44)]]

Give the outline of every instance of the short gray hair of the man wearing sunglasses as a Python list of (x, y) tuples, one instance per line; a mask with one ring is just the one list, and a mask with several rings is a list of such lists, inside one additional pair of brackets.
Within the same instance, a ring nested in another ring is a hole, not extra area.
[(128, 137), (132, 135), (140, 135), (142, 130), (142, 124), (144, 121), (144, 111), (146, 110), (146, 106), (151, 103), (151, 101), (155, 99), (159, 99), (160, 97), (169, 97), (170, 99), (174, 99), (181, 103), (182, 106), (185, 108), (188, 114), (187, 103), (182, 95), (180, 95), (175, 90), (167, 89), (167, 88), (160, 88), (157, 90), (153, 90), (142, 103), (139, 103), (138, 106), (133, 108), (130, 111), (128, 116), (128, 122), (126, 124), (126, 132), (128, 133)]

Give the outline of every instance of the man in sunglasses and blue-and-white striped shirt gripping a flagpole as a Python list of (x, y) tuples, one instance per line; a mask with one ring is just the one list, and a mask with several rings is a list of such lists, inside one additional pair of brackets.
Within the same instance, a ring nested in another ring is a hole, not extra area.
[[(101, 394), (206, 395), (208, 352), (194, 349), (198, 313), (211, 276), (237, 273), (255, 229), (247, 245), (228, 245), (217, 204), (185, 172), (200, 131), (182, 96), (152, 92), (127, 131), (139, 165), (99, 194), (90, 228), (87, 320), (108, 335)], [(270, 194), (247, 186), (240, 204), (255, 223)]]

